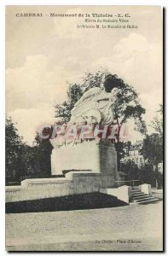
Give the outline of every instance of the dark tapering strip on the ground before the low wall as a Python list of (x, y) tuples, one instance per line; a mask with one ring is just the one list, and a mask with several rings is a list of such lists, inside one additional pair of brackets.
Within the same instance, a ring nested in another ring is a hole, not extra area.
[(6, 203), (6, 213), (21, 212), (57, 212), (84, 209), (98, 209), (127, 206), (113, 195), (99, 192), (79, 195), (66, 195), (32, 201), (15, 201)]

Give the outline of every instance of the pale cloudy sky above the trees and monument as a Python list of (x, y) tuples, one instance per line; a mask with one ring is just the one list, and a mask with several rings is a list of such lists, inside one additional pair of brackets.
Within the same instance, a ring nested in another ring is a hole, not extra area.
[[(16, 17), (27, 13), (42, 13), (43, 17)], [(49, 17), (50, 13), (130, 14), (129, 24), (138, 29), (77, 28), (94, 23)], [(6, 113), (17, 123), (24, 141), (32, 145), (41, 125), (54, 124), (54, 106), (66, 100), (67, 81), (80, 83), (84, 73), (103, 67), (135, 88), (150, 124), (162, 103), (162, 57), (159, 7), (8, 6)], [(128, 139), (141, 138), (132, 122), (128, 125)], [(148, 131), (152, 132), (149, 126)]]

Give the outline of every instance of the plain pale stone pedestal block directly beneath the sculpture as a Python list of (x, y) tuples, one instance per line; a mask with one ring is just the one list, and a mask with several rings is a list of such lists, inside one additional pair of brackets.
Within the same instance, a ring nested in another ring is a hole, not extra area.
[(117, 154), (113, 143), (107, 139), (84, 141), (54, 148), (51, 154), (51, 174), (62, 171), (84, 171), (117, 176)]

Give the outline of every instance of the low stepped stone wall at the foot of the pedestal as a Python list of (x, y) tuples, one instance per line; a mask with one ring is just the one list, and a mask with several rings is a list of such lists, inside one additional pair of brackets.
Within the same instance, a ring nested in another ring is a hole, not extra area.
[(7, 186), (6, 202), (91, 193), (113, 185), (113, 177), (101, 173), (68, 172), (66, 177), (26, 179), (20, 186)]

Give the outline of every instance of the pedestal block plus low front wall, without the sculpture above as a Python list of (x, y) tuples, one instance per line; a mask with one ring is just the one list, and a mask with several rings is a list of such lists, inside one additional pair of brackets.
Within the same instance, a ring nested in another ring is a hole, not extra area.
[[(52, 175), (65, 177), (32, 178), (21, 186), (6, 188), (6, 201), (27, 201), (64, 195), (98, 192), (116, 186), (117, 154), (109, 140), (84, 141), (54, 148), (51, 155)], [(78, 172), (77, 172), (78, 171)]]

